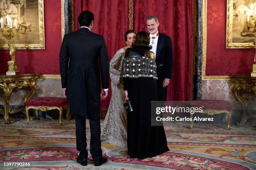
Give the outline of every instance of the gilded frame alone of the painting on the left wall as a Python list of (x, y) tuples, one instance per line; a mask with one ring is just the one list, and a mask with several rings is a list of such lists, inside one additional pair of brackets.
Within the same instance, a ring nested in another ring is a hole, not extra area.
[[(44, 50), (44, 0), (38, 0), (38, 18), (39, 18), (39, 44), (15, 44), (16, 49), (20, 50)], [(9, 49), (8, 45), (0, 45), (0, 49)]]

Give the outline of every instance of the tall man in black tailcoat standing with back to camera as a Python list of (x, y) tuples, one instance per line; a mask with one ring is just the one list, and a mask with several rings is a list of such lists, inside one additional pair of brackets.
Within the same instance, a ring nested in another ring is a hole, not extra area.
[[(107, 162), (102, 157), (100, 143), (100, 100), (108, 95), (109, 63), (105, 40), (91, 32), (94, 15), (83, 11), (79, 18), (80, 29), (64, 35), (59, 54), (61, 85), (64, 96), (74, 112), (76, 124), (77, 162), (87, 165), (85, 116), (90, 121), (90, 153), (95, 166)], [(99, 66), (100, 60), (100, 66)], [(99, 69), (100, 67), (100, 69)], [(102, 90), (100, 90), (100, 75)]]

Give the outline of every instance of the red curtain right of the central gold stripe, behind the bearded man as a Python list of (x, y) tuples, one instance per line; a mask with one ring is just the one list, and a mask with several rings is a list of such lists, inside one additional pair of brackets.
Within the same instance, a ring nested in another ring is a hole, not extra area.
[(156, 15), (159, 32), (172, 38), (173, 74), (167, 100), (190, 100), (192, 83), (192, 0), (136, 0), (134, 30), (147, 31), (146, 17)]

